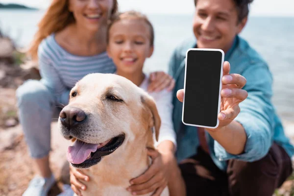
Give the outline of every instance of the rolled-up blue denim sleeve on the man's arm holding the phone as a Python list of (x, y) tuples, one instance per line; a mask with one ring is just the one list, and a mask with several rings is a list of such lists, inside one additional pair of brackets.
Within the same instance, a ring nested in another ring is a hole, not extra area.
[(266, 65), (250, 65), (242, 74), (247, 82), (244, 89), (248, 97), (240, 103), (241, 112), (235, 121), (245, 129), (247, 140), (244, 153), (232, 155), (215, 141), (216, 157), (220, 160), (239, 159), (253, 162), (263, 158), (269, 151), (273, 138), (274, 109), (272, 76)]

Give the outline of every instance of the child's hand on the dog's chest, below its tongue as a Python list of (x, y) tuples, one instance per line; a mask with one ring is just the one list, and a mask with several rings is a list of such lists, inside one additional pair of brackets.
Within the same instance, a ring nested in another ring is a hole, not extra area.
[(71, 174), (71, 187), (73, 189), (73, 192), (78, 195), (82, 196), (81, 190), (85, 191), (87, 187), (82, 184), (82, 181), (89, 181), (89, 176), (83, 174), (78, 169), (74, 168), (73, 166), (70, 166), (70, 174)]

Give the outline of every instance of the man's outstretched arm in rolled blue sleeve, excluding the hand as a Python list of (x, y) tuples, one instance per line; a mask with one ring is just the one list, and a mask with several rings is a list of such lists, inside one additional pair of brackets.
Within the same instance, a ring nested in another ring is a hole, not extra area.
[[(267, 154), (272, 143), (272, 77), (266, 65), (250, 66), (243, 73), (247, 80), (244, 89), (248, 92), (248, 97), (240, 103), (240, 114), (227, 129), (211, 133), (216, 140), (215, 153), (220, 160), (234, 158), (256, 161)], [(245, 131), (245, 138), (240, 134), (241, 129)]]

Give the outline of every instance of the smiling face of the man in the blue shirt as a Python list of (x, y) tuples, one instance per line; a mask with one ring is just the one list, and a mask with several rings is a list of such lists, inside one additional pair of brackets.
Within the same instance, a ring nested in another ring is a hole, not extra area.
[(222, 49), (227, 52), (246, 20), (238, 22), (233, 0), (197, 0), (193, 21), (197, 48)]

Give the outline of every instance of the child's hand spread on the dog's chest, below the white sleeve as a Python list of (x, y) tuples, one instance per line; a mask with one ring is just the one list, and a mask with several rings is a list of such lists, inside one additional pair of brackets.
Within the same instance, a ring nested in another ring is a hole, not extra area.
[(132, 195), (153, 193), (152, 196), (160, 196), (168, 184), (169, 174), (172, 172), (174, 165), (174, 155), (168, 152), (160, 153), (149, 148), (147, 155), (151, 157), (152, 164), (145, 173), (130, 181), (132, 185), (127, 190)]

